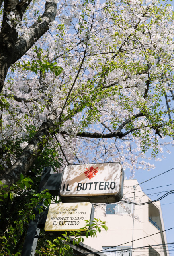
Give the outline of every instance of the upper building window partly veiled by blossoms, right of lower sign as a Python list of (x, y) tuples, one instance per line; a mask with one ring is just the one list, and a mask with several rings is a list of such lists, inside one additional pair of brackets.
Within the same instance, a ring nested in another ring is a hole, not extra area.
[(133, 205), (124, 203), (124, 208), (119, 204), (107, 204), (106, 214), (128, 214), (133, 212)]

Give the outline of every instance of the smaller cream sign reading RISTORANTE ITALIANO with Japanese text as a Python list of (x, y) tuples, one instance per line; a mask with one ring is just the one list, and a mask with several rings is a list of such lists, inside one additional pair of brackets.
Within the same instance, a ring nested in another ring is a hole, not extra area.
[(65, 230), (80, 231), (86, 226), (85, 220), (93, 219), (94, 207), (90, 202), (50, 204), (44, 230), (53, 235)]

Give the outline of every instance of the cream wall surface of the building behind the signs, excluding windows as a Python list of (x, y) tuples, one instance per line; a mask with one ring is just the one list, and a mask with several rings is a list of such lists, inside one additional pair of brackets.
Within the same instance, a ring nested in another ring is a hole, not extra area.
[[(137, 180), (125, 180), (123, 193), (124, 200), (132, 200), (135, 196), (135, 201), (138, 203), (151, 201), (149, 197), (141, 190), (141, 187), (137, 184)], [(143, 206), (135, 205), (132, 207), (132, 214), (104, 214), (104, 212), (106, 212), (106, 205), (103, 205), (102, 207), (96, 207), (94, 218), (106, 221), (108, 232), (101, 231), (101, 234), (98, 234), (97, 238), (84, 238), (84, 244), (87, 244), (88, 246), (91, 246), (97, 250), (102, 250), (102, 247), (108, 246), (111, 247), (122, 245), (132, 246), (132, 248), (135, 248), (140, 246), (152, 246), (155, 244), (166, 243), (165, 234), (158, 233), (164, 230), (160, 202), (145, 204)], [(134, 216), (137, 216), (134, 219), (133, 212)], [(149, 213), (152, 215), (151, 218), (153, 221), (157, 222), (160, 230), (158, 229), (158, 226), (154, 226), (154, 224), (149, 221)], [(152, 234), (155, 235), (151, 236)], [(143, 238), (145, 236), (148, 237)], [(143, 239), (132, 242), (132, 240), (139, 238)], [(161, 249), (159, 249), (159, 246), (152, 248), (161, 254)], [(137, 249), (133, 251), (132, 256), (149, 255), (148, 250), (149, 248), (141, 250)], [(162, 255), (168, 256), (168, 253), (165, 252), (165, 248)]]

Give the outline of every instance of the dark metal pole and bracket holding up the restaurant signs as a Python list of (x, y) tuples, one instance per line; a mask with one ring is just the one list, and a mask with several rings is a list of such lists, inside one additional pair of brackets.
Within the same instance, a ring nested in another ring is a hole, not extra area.
[[(39, 192), (48, 189), (49, 193), (53, 196), (58, 195), (58, 190), (61, 182), (61, 173), (54, 174), (53, 169), (51, 167), (44, 167), (43, 173), (41, 176), (41, 182), (39, 185)], [(39, 206), (44, 205), (44, 203), (40, 203)], [(34, 256), (35, 249), (37, 246), (37, 240), (39, 236), (40, 229), (38, 227), (39, 224), (39, 211), (37, 209), (34, 210), (35, 219), (31, 220), (29, 223), (29, 227), (27, 230), (27, 235), (25, 237), (25, 242), (23, 244), (23, 249), (21, 256)]]

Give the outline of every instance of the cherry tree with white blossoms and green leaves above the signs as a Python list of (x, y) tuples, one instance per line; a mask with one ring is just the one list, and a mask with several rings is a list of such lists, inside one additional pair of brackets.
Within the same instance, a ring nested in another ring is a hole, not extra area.
[(154, 168), (151, 157), (160, 160), (173, 143), (173, 108), (164, 105), (174, 80), (172, 7), (157, 0), (0, 6), (1, 188), (12, 192), (24, 176), (38, 184), (43, 166), (61, 172), (120, 161), (132, 176)]

